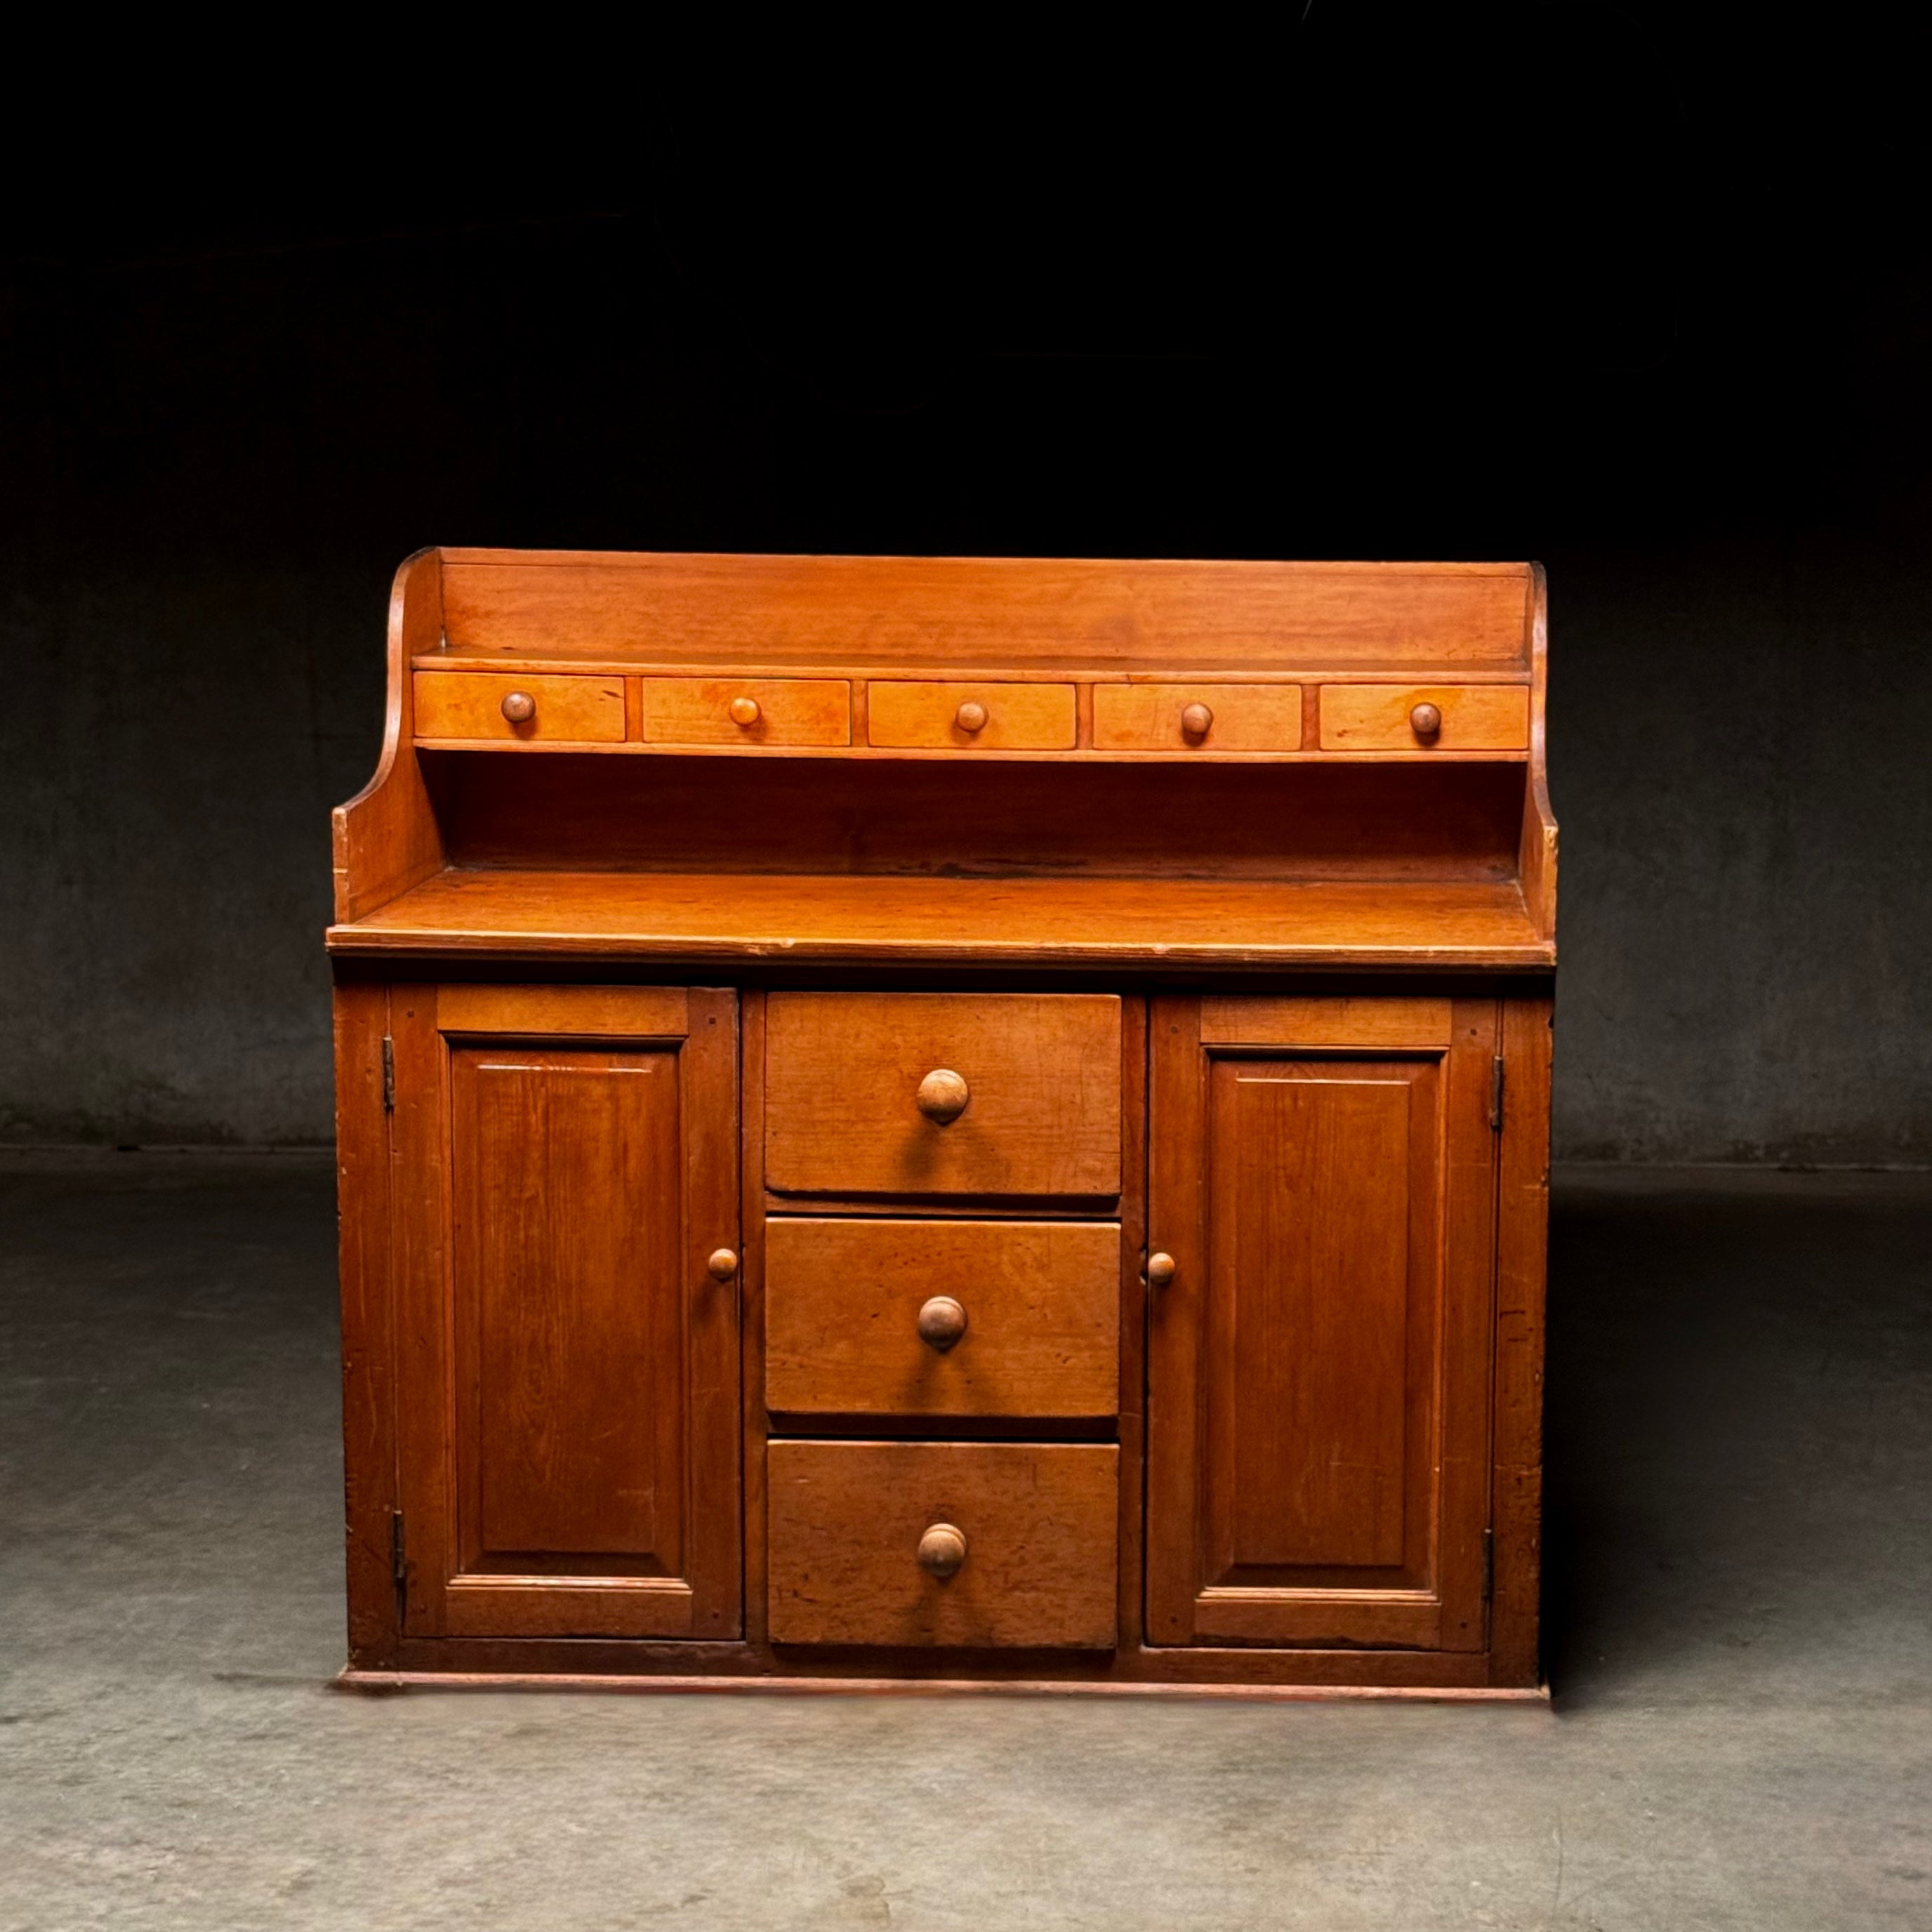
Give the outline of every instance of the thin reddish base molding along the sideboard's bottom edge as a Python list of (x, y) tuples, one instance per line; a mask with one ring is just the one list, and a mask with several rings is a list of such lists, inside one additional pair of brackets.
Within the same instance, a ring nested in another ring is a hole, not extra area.
[(400, 1690), (620, 1690), (750, 1696), (1196, 1696), (1262, 1704), (1549, 1704), (1549, 1685), (1213, 1685), (1053, 1677), (639, 1677), (618, 1671), (357, 1671), (332, 1679), (336, 1690), (392, 1696)]

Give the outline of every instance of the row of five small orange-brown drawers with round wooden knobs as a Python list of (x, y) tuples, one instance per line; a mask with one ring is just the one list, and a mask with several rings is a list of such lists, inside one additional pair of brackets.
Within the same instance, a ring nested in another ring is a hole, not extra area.
[[(634, 703), (626, 697), (634, 688)], [(1095, 684), (1095, 752), (1298, 752), (1298, 684)], [(1072, 752), (1072, 684), (873, 680), (875, 750)], [(1520, 684), (1323, 684), (1323, 752), (1520, 752)], [(620, 678), (415, 672), (415, 736), (440, 744), (850, 746), (846, 678)]]

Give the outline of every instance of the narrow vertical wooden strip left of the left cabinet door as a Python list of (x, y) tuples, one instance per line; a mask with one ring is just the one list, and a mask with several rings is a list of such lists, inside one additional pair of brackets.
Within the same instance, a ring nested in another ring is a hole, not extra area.
[(396, 1650), (394, 1364), (388, 1281), (388, 987), (336, 987), (336, 1202), (342, 1269), (342, 1482), (348, 1515), (350, 1660)]

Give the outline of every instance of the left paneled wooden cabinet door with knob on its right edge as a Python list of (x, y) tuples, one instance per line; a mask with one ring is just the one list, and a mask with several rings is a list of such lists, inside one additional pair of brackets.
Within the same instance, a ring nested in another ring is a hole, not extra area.
[(396, 987), (410, 1636), (736, 1636), (730, 993)]

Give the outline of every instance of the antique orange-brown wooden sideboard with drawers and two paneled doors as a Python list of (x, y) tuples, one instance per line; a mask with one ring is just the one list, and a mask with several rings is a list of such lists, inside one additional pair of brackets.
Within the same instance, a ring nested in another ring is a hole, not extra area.
[(423, 551), (352, 1683), (1534, 1694), (1528, 564)]

